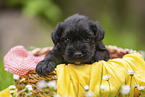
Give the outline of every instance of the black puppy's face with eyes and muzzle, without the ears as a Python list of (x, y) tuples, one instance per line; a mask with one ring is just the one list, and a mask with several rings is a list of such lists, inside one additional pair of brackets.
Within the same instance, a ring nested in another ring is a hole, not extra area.
[(84, 63), (91, 59), (95, 52), (95, 36), (89, 28), (78, 25), (64, 29), (60, 38), (60, 45), (63, 45), (63, 57), (70, 63)]

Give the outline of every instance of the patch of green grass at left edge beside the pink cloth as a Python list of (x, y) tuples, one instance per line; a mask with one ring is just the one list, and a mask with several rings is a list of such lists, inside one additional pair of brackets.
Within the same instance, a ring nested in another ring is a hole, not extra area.
[(13, 74), (4, 70), (3, 57), (0, 56), (0, 91), (13, 84)]

